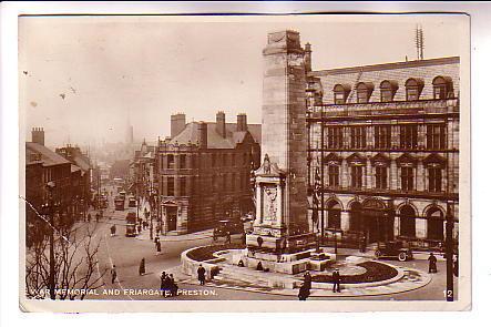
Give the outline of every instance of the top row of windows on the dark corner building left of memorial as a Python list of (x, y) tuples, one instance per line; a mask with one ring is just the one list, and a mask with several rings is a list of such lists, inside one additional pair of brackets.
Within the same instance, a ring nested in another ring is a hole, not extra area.
[[(190, 163), (186, 163), (186, 157), (190, 159)], [(209, 157), (211, 167), (245, 165), (249, 161), (247, 152), (244, 153), (212, 153), (209, 156), (200, 154), (200, 163), (202, 167), (206, 166), (207, 157)], [(188, 154), (165, 154), (161, 156), (161, 168), (195, 168), (197, 164), (195, 162), (195, 155)], [(239, 160), (239, 162), (237, 162)], [(178, 165), (177, 165), (178, 163)]]

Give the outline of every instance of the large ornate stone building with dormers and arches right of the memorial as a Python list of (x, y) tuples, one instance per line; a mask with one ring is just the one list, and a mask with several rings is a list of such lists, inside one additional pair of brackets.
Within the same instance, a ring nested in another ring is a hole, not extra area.
[(438, 246), (459, 221), (459, 58), (311, 71), (310, 55), (307, 44), (315, 224)]

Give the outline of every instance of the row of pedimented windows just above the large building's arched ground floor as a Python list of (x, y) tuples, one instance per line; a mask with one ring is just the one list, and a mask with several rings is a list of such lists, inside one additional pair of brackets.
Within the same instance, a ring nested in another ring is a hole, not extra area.
[[(416, 191), (416, 168), (412, 166), (400, 167), (400, 187), (402, 191)], [(428, 190), (429, 192), (442, 191), (442, 168), (440, 166), (428, 166)], [(339, 165), (329, 165), (327, 170), (328, 186), (338, 187), (340, 184)], [(360, 190), (362, 188), (362, 166), (351, 166), (350, 171), (350, 187)], [(375, 167), (375, 188), (387, 190), (388, 188), (388, 167), (376, 166)]]

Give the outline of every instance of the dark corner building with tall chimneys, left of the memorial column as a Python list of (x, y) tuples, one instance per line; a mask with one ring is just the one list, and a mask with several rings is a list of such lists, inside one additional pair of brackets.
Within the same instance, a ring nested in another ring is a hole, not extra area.
[(211, 228), (223, 218), (254, 211), (250, 172), (259, 164), (260, 125), (245, 114), (226, 123), (190, 122), (171, 117), (171, 136), (158, 140), (156, 184), (162, 232), (188, 233)]

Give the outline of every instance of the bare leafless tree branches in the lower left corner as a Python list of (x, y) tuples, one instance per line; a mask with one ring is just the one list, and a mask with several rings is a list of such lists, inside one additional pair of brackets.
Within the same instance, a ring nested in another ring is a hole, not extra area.
[[(78, 238), (78, 234), (82, 234)], [(58, 299), (83, 299), (90, 290), (104, 285), (98, 269), (96, 254), (101, 241), (94, 239), (93, 231), (71, 231), (58, 237), (54, 244), (54, 285)], [(49, 241), (35, 244), (27, 253), (25, 296), (44, 298), (50, 287)], [(99, 274), (99, 276), (98, 276)]]

